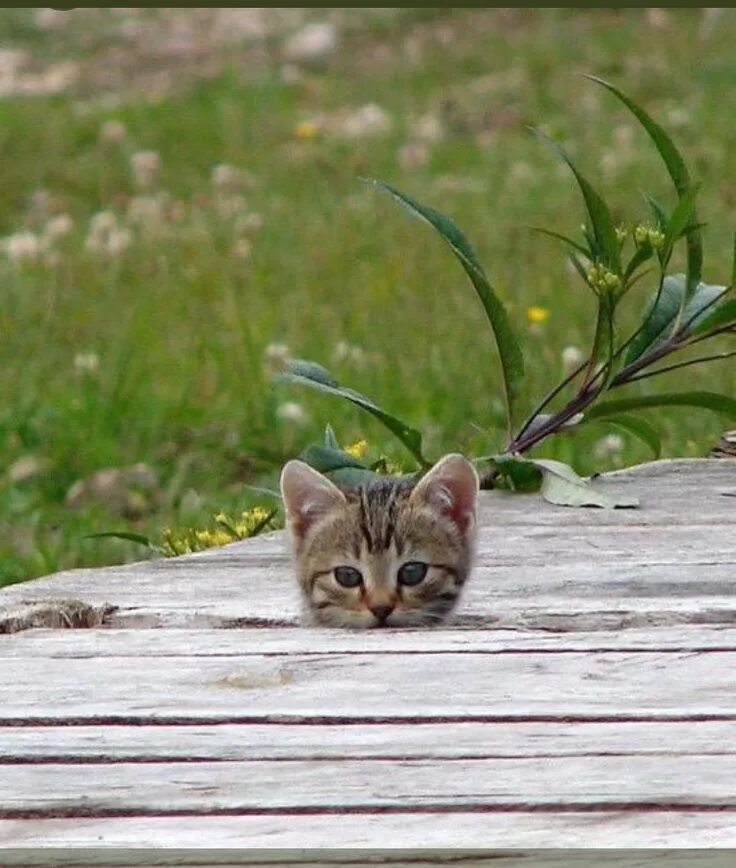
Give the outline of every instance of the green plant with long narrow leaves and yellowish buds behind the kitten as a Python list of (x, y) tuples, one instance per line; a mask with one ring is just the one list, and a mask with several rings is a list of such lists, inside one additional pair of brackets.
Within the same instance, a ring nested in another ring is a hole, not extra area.
[[(736, 334), (736, 299), (730, 297), (736, 281), (736, 251), (728, 285), (711, 286), (701, 281), (702, 224), (698, 222), (695, 210), (698, 184), (693, 183), (678, 149), (659, 124), (618, 88), (602, 79), (588, 77), (615, 95), (647, 132), (664, 162), (677, 201), (668, 211), (653, 197), (645, 195), (649, 217), (630, 227), (616, 225), (605, 200), (567, 153), (538, 134), (569, 166), (586, 211), (586, 224), (582, 226), (580, 240), (546, 229), (538, 231), (558, 239), (568, 248), (575, 270), (596, 297), (597, 314), (587, 358), (521, 421), (518, 406), (524, 376), (521, 345), (503, 302), (469, 241), (449, 218), (434, 208), (421, 204), (385, 182), (371, 183), (388, 192), (439, 233), (460, 262), (485, 311), (501, 365), (507, 435), (502, 451), (479, 457), (476, 461), (490, 465), (493, 469), (491, 476), (505, 480), (511, 487), (523, 486), (541, 473), (542, 494), (556, 503), (633, 506), (635, 503), (630, 500), (615, 500), (596, 491), (587, 480), (560, 462), (530, 459), (525, 455), (548, 437), (596, 420), (606, 420), (625, 429), (646, 443), (655, 456), (659, 455), (657, 430), (650, 422), (633, 415), (634, 411), (650, 407), (690, 406), (736, 418), (736, 400), (713, 392), (664, 392), (606, 400), (609, 392), (633, 382), (736, 354), (736, 350), (721, 350), (695, 357), (683, 358), (680, 355), (683, 350), (699, 347), (717, 336)], [(673, 253), (680, 243), (685, 246), (686, 273), (669, 274)], [(652, 273), (656, 275), (653, 292), (639, 325), (631, 333), (622, 335), (616, 316), (619, 305), (642, 278)], [(676, 361), (661, 364), (673, 356)], [(341, 386), (321, 365), (311, 361), (293, 361), (278, 375), (278, 379), (351, 401), (372, 414), (398, 438), (411, 453), (418, 470), (429, 466), (417, 430), (364, 395)], [(557, 402), (561, 405), (551, 409)], [(375, 473), (375, 468), (341, 450), (329, 428), (325, 443), (309, 447), (302, 457), (318, 470), (345, 482), (360, 481)], [(486, 478), (490, 479), (490, 476)]]

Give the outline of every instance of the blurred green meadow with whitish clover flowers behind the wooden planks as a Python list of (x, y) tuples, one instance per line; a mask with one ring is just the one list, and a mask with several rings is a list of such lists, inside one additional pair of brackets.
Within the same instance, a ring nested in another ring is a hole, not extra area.
[[(673, 201), (643, 131), (580, 73), (672, 134), (703, 183), (704, 280), (726, 283), (735, 42), (730, 9), (0, 10), (0, 584), (143, 555), (86, 534), (242, 510), (258, 502), (244, 485), (273, 487), (327, 421), (406, 460), (358, 410), (274, 388), (284, 354), (420, 428), (432, 457), (502, 447), (471, 287), (359, 178), (466, 232), (522, 335), (530, 408), (563, 349), (588, 345), (594, 308), (527, 228), (574, 234), (582, 206), (526, 126), (569, 149), (617, 219), (645, 216), (644, 189)], [(628, 388), (734, 384), (722, 362)], [(657, 416), (665, 456), (704, 455), (725, 427)], [(582, 472), (649, 457), (608, 435), (539, 454)]]

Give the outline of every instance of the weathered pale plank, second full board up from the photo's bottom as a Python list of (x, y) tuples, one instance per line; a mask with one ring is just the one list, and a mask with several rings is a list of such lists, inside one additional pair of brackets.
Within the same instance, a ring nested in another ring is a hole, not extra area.
[[(4, 765), (3, 819), (387, 810), (728, 809), (736, 755)], [(72, 773), (74, 772), (74, 773)]]

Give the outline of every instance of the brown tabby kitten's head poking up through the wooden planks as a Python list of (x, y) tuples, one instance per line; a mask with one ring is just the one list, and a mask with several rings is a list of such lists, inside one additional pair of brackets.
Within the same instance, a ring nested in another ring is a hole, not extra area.
[(446, 455), (418, 482), (384, 477), (340, 489), (302, 461), (281, 473), (305, 614), (331, 627), (444, 620), (475, 549), (478, 474)]

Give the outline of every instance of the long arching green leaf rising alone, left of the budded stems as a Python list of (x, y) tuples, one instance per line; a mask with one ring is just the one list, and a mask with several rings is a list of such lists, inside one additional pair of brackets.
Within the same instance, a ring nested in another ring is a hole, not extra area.
[(429, 223), (433, 229), (439, 232), (442, 239), (450, 246), (475, 291), (480, 298), (483, 309), (491, 325), (498, 355), (501, 360), (501, 373), (506, 394), (506, 408), (509, 434), (514, 423), (515, 405), (519, 397), (521, 379), (524, 375), (524, 357), (519, 341), (511, 328), (508, 314), (503, 303), (496, 295), (491, 286), (483, 267), (478, 262), (475, 251), (465, 235), (444, 214), (436, 211), (428, 205), (422, 205), (411, 196), (407, 196), (385, 181), (371, 181), (379, 189), (385, 190), (397, 201), (401, 202), (416, 217)]

